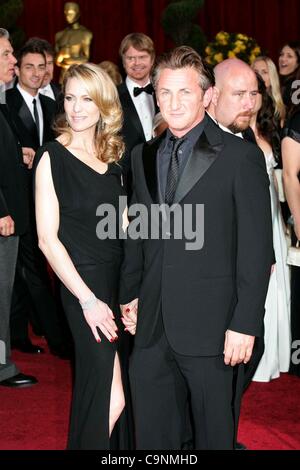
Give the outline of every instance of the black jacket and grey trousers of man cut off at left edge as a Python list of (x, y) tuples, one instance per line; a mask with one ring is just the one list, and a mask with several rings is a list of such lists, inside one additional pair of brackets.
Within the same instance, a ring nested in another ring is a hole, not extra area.
[(0, 105), (0, 218), (12, 217), (15, 233), (10, 237), (0, 235), (0, 340), (6, 345), (6, 363), (0, 361), (0, 381), (18, 373), (10, 360), (10, 304), (15, 276), (19, 235), (28, 224), (26, 204), (25, 168), (22, 149), (17, 142), (5, 105)]

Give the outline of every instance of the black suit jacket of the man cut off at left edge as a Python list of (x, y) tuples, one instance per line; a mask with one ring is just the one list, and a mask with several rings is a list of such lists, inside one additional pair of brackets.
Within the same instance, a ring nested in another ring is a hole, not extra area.
[(0, 105), (0, 218), (10, 215), (15, 235), (26, 231), (28, 207), (22, 147), (13, 133), (6, 105)]

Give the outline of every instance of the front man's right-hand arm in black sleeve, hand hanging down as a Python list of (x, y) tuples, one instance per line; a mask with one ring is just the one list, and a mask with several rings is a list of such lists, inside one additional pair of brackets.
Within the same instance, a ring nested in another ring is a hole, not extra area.
[(269, 178), (260, 149), (241, 157), (234, 187), (237, 223), (237, 305), (226, 332), (225, 363), (250, 360), (261, 333), (273, 260)]

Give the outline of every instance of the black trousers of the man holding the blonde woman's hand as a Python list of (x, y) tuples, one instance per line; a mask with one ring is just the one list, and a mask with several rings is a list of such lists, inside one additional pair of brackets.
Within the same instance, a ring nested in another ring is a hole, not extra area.
[(136, 448), (180, 450), (190, 403), (195, 449), (233, 449), (233, 369), (224, 357), (175, 353), (166, 335), (130, 361)]

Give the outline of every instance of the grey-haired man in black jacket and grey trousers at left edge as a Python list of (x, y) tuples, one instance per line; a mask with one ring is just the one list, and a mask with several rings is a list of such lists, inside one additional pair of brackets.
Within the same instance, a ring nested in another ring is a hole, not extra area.
[[(15, 64), (9, 34), (0, 28), (0, 87), (12, 80)], [(2, 99), (4, 91), (0, 89), (0, 93), (0, 385), (24, 387), (37, 380), (20, 373), (11, 360), (9, 320), (19, 236), (28, 225), (25, 165), (31, 160), (27, 154), (22, 155)]]

